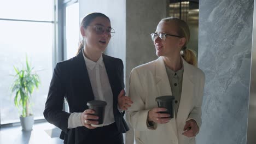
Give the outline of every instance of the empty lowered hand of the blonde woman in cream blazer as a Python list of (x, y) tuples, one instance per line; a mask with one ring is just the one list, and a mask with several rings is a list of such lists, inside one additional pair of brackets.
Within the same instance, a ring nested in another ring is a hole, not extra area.
[(194, 119), (190, 119), (186, 122), (184, 126), (184, 133), (182, 133), (184, 136), (187, 137), (194, 137), (199, 132), (199, 127), (196, 124), (196, 121)]

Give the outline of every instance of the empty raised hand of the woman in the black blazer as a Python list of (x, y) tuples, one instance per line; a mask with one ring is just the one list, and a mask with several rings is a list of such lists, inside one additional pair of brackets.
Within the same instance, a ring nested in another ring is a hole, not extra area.
[(125, 91), (124, 89), (119, 93), (118, 95), (118, 107), (121, 110), (127, 110), (128, 107), (130, 107), (133, 101), (131, 98), (125, 96)]

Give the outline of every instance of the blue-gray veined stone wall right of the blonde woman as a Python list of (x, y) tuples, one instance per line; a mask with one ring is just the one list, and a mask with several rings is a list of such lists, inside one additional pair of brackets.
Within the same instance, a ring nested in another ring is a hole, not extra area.
[(206, 74), (199, 144), (246, 143), (253, 0), (200, 1), (199, 68)]

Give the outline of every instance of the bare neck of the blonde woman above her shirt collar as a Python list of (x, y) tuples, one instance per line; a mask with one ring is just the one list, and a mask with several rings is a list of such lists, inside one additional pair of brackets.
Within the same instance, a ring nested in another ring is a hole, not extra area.
[(180, 56), (163, 57), (163, 59), (166, 66), (173, 71), (178, 71), (182, 68), (182, 60)]

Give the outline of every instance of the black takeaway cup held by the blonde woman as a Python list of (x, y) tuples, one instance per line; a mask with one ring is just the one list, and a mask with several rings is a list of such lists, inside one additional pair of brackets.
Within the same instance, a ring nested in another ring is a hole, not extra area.
[(156, 102), (158, 102), (158, 107), (165, 107), (167, 111), (161, 111), (160, 113), (168, 113), (170, 114), (170, 118), (173, 118), (173, 100), (174, 96), (172, 95), (165, 95), (161, 97), (157, 97), (155, 99)]

